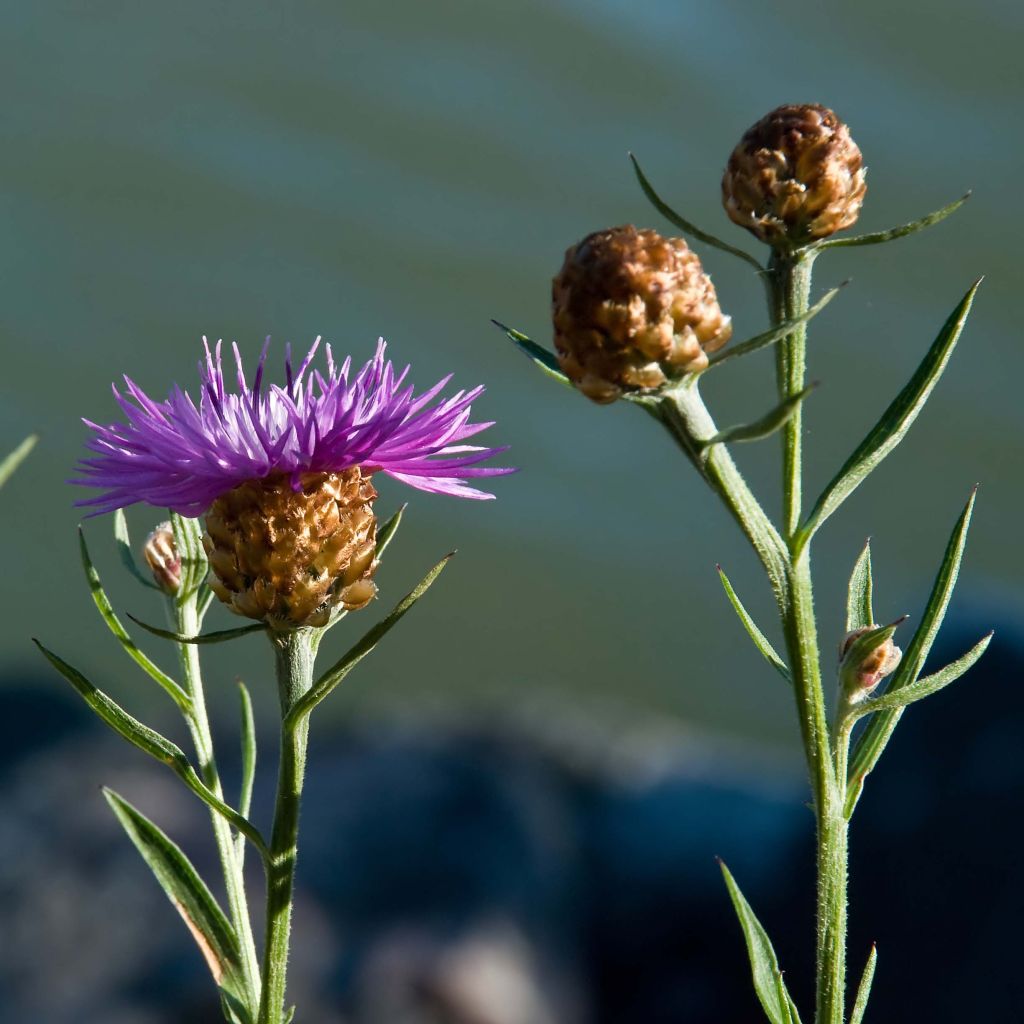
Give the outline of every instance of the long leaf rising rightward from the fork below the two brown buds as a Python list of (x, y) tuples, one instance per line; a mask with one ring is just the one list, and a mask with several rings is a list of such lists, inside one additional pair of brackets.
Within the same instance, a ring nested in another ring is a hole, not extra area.
[(942, 372), (949, 361), (956, 340), (964, 330), (971, 303), (981, 284), (979, 279), (971, 286), (959, 305), (950, 313), (938, 338), (918, 367), (910, 382), (882, 414), (882, 419), (871, 428), (859, 447), (825, 487), (817, 504), (807, 517), (800, 531), (797, 551), (807, 544), (818, 527), (846, 501), (868, 473), (903, 439), (910, 424), (918, 418)]

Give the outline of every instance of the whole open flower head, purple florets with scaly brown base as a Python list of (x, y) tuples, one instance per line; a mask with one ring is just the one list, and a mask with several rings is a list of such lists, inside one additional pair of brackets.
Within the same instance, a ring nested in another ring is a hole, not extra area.
[(489, 423), (471, 423), (482, 388), (420, 395), (396, 372), (381, 340), (358, 373), (325, 346), (326, 372), (297, 372), (286, 355), (284, 386), (263, 384), (264, 345), (250, 386), (232, 345), (229, 391), (221, 346), (200, 364), (198, 402), (176, 385), (155, 401), (129, 378), (114, 395), (125, 422), (93, 431), (94, 457), (73, 482), (102, 493), (80, 502), (93, 514), (138, 502), (205, 516), (210, 586), (233, 611), (275, 629), (323, 626), (338, 606), (362, 607), (376, 592), (377, 519), (371, 483), (382, 472), (436, 494), (492, 498), (470, 482), (512, 472), (481, 462), (505, 449), (463, 443)]

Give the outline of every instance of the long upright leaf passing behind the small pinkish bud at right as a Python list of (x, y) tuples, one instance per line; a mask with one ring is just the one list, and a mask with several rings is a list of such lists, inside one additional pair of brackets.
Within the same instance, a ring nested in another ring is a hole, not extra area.
[[(895, 693), (904, 686), (909, 686), (916, 682), (921, 675), (925, 659), (928, 657), (939, 628), (942, 626), (946, 608), (949, 606), (949, 598), (952, 596), (953, 587), (956, 584), (961, 562), (964, 559), (964, 548), (967, 545), (967, 534), (971, 526), (971, 513), (974, 510), (976, 495), (977, 488), (971, 493), (961, 517), (956, 520), (956, 525), (953, 526), (952, 535), (942, 558), (942, 564), (932, 586), (928, 604), (925, 606), (921, 625), (903, 654), (903, 659), (893, 676), (888, 693)], [(850, 758), (849, 788), (846, 801), (847, 817), (853, 814), (864, 787), (864, 778), (878, 764), (882, 751), (889, 742), (889, 737), (902, 714), (901, 708), (880, 712), (868, 721), (864, 731), (857, 739)]]

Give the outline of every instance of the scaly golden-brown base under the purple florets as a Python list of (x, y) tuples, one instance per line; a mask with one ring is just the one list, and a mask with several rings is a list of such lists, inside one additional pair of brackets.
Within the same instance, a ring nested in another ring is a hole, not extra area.
[(325, 626), (377, 592), (377, 497), (357, 467), (250, 480), (206, 514), (209, 584), (232, 611), (274, 629)]

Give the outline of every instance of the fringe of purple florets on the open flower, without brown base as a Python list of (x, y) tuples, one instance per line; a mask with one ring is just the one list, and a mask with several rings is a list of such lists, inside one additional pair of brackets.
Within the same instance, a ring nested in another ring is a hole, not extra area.
[(327, 374), (311, 370), (319, 339), (297, 373), (290, 348), (285, 354), (286, 386), (263, 386), (267, 345), (263, 346), (252, 387), (246, 383), (238, 345), (238, 391), (224, 387), (220, 342), (200, 362), (199, 404), (175, 385), (165, 401), (154, 401), (125, 377), (126, 393), (114, 387), (125, 423), (100, 426), (86, 446), (94, 458), (79, 464), (73, 480), (102, 494), (79, 502), (95, 506), (93, 515), (137, 502), (199, 516), (220, 495), (246, 480), (288, 474), (298, 488), (303, 473), (340, 473), (358, 466), (383, 472), (421, 490), (459, 498), (493, 498), (464, 482), (500, 476), (512, 469), (478, 464), (506, 451), (463, 444), (492, 426), (470, 423), (470, 404), (482, 387), (439, 398), (451, 376), (414, 395), (385, 360), (386, 344), (351, 377), (351, 358), (336, 367), (326, 345)]

